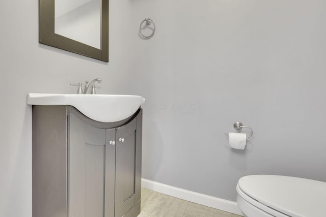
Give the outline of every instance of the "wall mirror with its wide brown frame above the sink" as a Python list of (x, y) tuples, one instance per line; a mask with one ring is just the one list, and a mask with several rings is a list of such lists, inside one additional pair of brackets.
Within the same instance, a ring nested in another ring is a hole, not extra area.
[(39, 42), (108, 62), (108, 0), (39, 0)]

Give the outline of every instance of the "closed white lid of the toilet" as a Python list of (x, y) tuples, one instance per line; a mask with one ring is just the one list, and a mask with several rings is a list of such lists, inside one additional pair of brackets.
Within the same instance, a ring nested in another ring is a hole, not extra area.
[(278, 175), (250, 175), (238, 187), (261, 204), (293, 217), (325, 214), (326, 182)]

